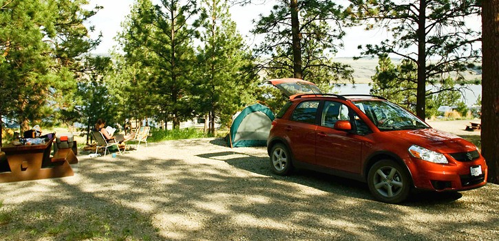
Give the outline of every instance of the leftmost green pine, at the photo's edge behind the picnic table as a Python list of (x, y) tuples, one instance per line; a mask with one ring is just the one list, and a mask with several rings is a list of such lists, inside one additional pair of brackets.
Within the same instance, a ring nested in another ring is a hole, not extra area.
[(0, 11), (0, 119), (17, 120), (23, 131), (30, 120), (43, 117), (52, 65), (40, 31), (47, 8), (36, 0), (18, 0), (5, 2)]

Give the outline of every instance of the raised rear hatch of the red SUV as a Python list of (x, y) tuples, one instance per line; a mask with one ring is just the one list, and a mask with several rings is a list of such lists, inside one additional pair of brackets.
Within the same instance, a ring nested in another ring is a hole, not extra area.
[(322, 93), (317, 85), (306, 80), (300, 80), (295, 78), (284, 78), (275, 80), (266, 80), (268, 84), (272, 84), (277, 87), (283, 95), (292, 98), (293, 95), (299, 94), (317, 94)]

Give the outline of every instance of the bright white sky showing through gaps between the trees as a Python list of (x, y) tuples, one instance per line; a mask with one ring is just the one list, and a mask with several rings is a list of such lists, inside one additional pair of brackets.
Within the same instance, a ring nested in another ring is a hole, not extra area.
[[(273, 6), (272, 1), (266, 5), (239, 5), (231, 7), (233, 21), (237, 23), (237, 29), (245, 37), (246, 44), (252, 45), (262, 39), (255, 38), (249, 31), (253, 28), (253, 19), (257, 19), (259, 14), (270, 12)], [(92, 16), (87, 25), (94, 25), (96, 31), (92, 33), (92, 38), (96, 38), (99, 32), (102, 32), (103, 38), (100, 45), (93, 51), (94, 54), (106, 54), (114, 45), (114, 37), (121, 31), (120, 23), (125, 20), (130, 12), (134, 0), (89, 0), (89, 6), (101, 5), (103, 9), (99, 10), (95, 16)], [(480, 19), (472, 21), (474, 25), (480, 26)], [(346, 36), (343, 37), (344, 48), (339, 49), (335, 57), (353, 57), (359, 56), (359, 45), (365, 45), (366, 41), (376, 44), (384, 39), (390, 38), (384, 30), (365, 31), (363, 27), (354, 27), (346, 30)]]

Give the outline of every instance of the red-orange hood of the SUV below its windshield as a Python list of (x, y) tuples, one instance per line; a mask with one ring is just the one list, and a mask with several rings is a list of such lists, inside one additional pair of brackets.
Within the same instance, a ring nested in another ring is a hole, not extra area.
[(476, 150), (476, 146), (471, 142), (458, 137), (457, 135), (446, 133), (434, 128), (421, 130), (396, 130), (387, 131), (387, 135), (404, 139), (411, 144), (416, 144), (429, 150), (440, 153), (470, 152)]

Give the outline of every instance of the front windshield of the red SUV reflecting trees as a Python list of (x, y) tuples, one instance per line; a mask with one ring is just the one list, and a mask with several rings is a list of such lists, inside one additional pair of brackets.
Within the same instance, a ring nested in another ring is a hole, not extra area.
[(354, 104), (382, 131), (430, 128), (405, 108), (391, 102), (361, 100)]

